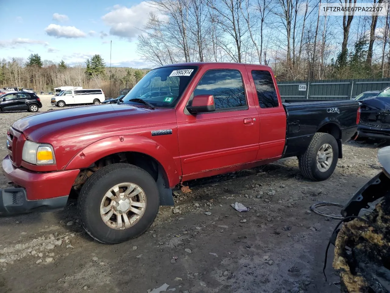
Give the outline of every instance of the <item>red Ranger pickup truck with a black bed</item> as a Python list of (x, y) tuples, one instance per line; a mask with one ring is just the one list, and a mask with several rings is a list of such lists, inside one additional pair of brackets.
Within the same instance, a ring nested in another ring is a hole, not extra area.
[(73, 189), (90, 236), (119, 243), (145, 232), (186, 180), (293, 156), (305, 177), (327, 179), (359, 115), (350, 100), (283, 104), (267, 66), (162, 66), (114, 103), (15, 121), (0, 214), (64, 207)]

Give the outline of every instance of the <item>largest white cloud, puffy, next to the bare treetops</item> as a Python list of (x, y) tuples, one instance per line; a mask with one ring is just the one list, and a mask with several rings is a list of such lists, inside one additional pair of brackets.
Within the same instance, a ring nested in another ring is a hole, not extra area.
[(114, 5), (112, 11), (102, 16), (102, 20), (110, 27), (110, 34), (122, 38), (132, 39), (139, 34), (139, 29), (148, 20), (152, 7), (145, 1), (130, 8)]

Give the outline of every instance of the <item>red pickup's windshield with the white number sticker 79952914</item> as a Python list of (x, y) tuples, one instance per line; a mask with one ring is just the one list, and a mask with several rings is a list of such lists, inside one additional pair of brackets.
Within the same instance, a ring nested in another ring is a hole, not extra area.
[(149, 71), (124, 96), (124, 104), (140, 98), (155, 107), (173, 108), (197, 71), (197, 66), (172, 66)]

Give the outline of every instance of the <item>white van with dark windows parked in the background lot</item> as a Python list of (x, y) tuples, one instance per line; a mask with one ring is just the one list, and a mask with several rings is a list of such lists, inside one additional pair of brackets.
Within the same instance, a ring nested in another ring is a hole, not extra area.
[(51, 98), (51, 104), (57, 107), (65, 105), (100, 104), (105, 100), (101, 89), (70, 89)]

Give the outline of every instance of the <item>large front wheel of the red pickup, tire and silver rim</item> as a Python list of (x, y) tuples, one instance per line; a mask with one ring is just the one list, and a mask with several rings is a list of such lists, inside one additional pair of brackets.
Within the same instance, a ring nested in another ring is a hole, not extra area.
[(116, 244), (143, 234), (160, 207), (157, 184), (144, 169), (112, 164), (95, 172), (78, 197), (83, 228), (97, 241)]

